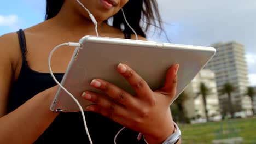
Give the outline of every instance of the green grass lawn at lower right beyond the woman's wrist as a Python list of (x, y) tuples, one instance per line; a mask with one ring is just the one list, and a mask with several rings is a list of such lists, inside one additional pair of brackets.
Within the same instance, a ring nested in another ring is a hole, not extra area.
[(201, 124), (179, 124), (179, 128), (182, 131), (182, 143), (212, 143), (214, 139), (235, 136), (242, 137), (243, 143), (256, 143), (256, 118)]

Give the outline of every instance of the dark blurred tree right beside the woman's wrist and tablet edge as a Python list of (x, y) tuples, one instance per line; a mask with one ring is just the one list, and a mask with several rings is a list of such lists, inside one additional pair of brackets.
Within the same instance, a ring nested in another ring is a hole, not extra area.
[[(178, 121), (181, 123), (185, 123), (185, 112), (184, 112), (184, 106), (183, 103), (188, 99), (187, 93), (184, 91), (179, 95), (179, 97), (173, 102), (171, 105), (172, 108), (172, 113), (173, 113), (173, 118), (178, 115)], [(176, 107), (175, 107), (176, 106)], [(176, 109), (175, 109), (176, 108)], [(176, 110), (176, 111), (174, 111)], [(176, 115), (175, 115), (176, 114)]]

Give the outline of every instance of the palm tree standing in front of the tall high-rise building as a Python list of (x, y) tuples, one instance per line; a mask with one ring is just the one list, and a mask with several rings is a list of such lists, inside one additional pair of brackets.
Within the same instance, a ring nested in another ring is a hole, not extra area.
[(228, 94), (228, 104), (229, 104), (229, 110), (231, 117), (234, 118), (234, 109), (232, 105), (232, 99), (231, 99), (231, 93), (235, 91), (234, 86), (231, 83), (225, 83), (223, 85), (222, 94)]

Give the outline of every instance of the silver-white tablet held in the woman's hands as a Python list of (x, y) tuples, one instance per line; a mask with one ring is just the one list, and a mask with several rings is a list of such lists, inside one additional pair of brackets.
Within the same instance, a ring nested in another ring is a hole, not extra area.
[[(164, 84), (167, 69), (171, 65), (179, 64), (176, 99), (216, 53), (213, 47), (94, 36), (85, 36), (79, 43), (83, 44), (83, 48), (75, 49), (61, 84), (84, 109), (92, 104), (81, 97), (85, 90), (102, 93), (90, 85), (95, 78), (111, 82), (134, 94), (132, 87), (117, 71), (119, 63), (129, 65), (152, 90)], [(61, 88), (50, 109), (54, 112), (79, 111), (74, 100)]]

